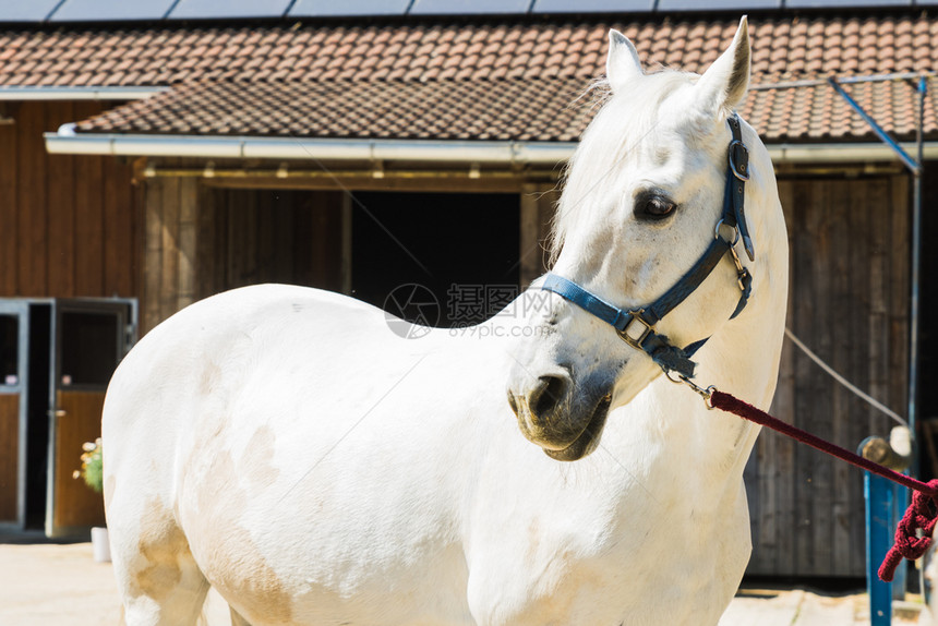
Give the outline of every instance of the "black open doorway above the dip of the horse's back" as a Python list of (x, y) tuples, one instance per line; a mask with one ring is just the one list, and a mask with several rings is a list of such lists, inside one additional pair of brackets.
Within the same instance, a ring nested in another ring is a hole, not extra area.
[(479, 323), (517, 294), (518, 194), (369, 192), (352, 205), (353, 297), (409, 317), (388, 297), (420, 286), (438, 316), (410, 321), (449, 327)]

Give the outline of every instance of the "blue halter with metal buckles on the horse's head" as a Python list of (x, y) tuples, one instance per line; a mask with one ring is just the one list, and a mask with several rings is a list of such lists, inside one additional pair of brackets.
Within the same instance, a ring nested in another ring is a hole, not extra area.
[[(654, 330), (654, 325), (675, 306), (684, 302), (710, 276), (710, 273), (727, 252), (736, 266), (736, 282), (742, 291), (736, 310), (730, 316), (731, 320), (746, 306), (753, 290), (753, 276), (743, 267), (735, 250), (736, 242), (742, 238), (746, 255), (749, 261), (755, 260), (753, 240), (749, 237), (744, 213), (746, 181), (749, 180), (749, 152), (743, 144), (739, 118), (734, 113), (726, 122), (730, 124), (733, 139), (727, 149), (729, 167), (726, 168), (726, 185), (723, 191), (723, 213), (717, 222), (713, 241), (703, 255), (697, 260), (697, 263), (661, 298), (646, 306), (625, 311), (556, 274), (548, 274), (541, 285), (541, 289), (553, 291), (603, 322), (611, 324), (626, 344), (648, 353), (665, 373), (673, 371), (686, 378), (694, 377), (696, 363), (690, 358), (709, 337), (684, 348), (678, 348), (672, 345), (668, 337), (659, 335)], [(732, 229), (732, 240), (723, 237), (722, 227)]]

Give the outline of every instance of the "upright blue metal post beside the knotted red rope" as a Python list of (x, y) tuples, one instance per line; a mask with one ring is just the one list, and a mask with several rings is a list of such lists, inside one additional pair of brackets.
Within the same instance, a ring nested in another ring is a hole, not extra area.
[[(866, 592), (869, 594), (870, 626), (892, 623), (892, 586), (879, 579), (877, 570), (892, 545), (894, 492), (892, 482), (863, 472), (866, 501)], [(900, 565), (900, 569), (902, 569)], [(898, 573), (898, 571), (897, 571)]]

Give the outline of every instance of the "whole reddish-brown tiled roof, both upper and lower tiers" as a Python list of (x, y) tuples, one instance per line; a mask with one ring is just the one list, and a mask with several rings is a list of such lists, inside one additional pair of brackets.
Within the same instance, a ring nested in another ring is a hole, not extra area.
[[(3, 86), (173, 85), (79, 132), (574, 141), (572, 103), (604, 72), (610, 26), (650, 67), (702, 71), (737, 20), (428, 21), (293, 28), (166, 27), (0, 33)], [(938, 16), (761, 15), (753, 83), (938, 69)], [(853, 85), (882, 125), (911, 136), (912, 89)], [(934, 89), (933, 89), (934, 93)], [(929, 98), (926, 132), (938, 133)], [(768, 141), (868, 141), (827, 85), (754, 91), (743, 115)]]

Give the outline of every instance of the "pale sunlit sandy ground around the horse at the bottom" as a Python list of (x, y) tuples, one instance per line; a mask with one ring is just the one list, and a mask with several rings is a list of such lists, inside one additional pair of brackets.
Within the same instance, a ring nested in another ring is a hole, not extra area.
[[(892, 624), (928, 624), (915, 598), (897, 605)], [(211, 594), (209, 626), (229, 625), (227, 605)], [(921, 619), (921, 621), (919, 621)], [(0, 540), (0, 625), (120, 624), (110, 563), (96, 563), (91, 543), (3, 543)], [(805, 589), (743, 589), (720, 626), (861, 626), (869, 624), (863, 593), (829, 595)]]

